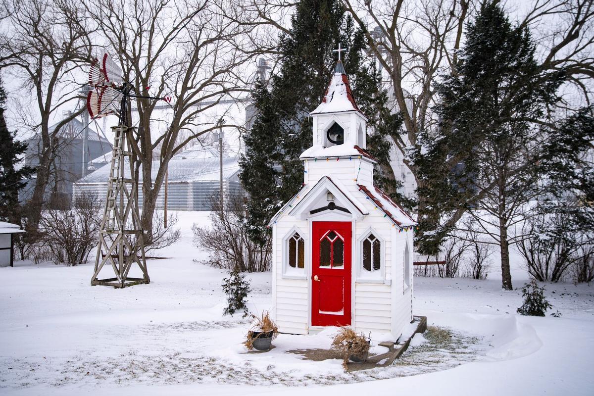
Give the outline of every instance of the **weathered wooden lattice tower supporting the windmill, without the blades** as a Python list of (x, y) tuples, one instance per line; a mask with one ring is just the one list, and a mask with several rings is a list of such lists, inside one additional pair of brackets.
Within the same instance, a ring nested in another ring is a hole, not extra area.
[[(124, 105), (122, 105), (124, 106)], [(124, 108), (122, 108), (124, 110)], [(150, 283), (144, 255), (144, 235), (138, 212), (137, 182), (132, 161), (132, 132), (127, 125), (113, 126), (114, 144), (108, 180), (108, 192), (99, 231), (99, 245), (91, 285), (127, 287)], [(124, 168), (128, 164), (129, 177)], [(138, 255), (140, 253), (140, 256)], [(115, 277), (99, 279), (104, 265), (112, 267)], [(138, 265), (142, 278), (128, 277)]]

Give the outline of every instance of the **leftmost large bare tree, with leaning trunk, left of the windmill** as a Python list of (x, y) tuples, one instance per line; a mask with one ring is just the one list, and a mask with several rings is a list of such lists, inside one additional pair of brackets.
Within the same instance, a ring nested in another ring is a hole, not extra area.
[[(89, 59), (91, 31), (87, 19), (72, 0), (13, 0), (3, 3), (0, 34), (0, 68), (6, 68), (33, 93), (33, 118), (29, 128), (40, 136), (41, 147), (33, 195), (27, 203), (27, 231), (39, 224), (52, 164), (59, 151), (58, 135), (84, 107), (58, 122), (49, 123), (65, 106), (78, 102), (81, 86), (74, 81), (81, 62)], [(26, 121), (25, 121), (26, 122)]]

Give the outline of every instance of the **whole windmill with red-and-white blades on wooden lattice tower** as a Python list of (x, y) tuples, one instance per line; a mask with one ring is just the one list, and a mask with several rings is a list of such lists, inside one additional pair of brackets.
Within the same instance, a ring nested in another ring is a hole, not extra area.
[[(108, 179), (108, 191), (99, 231), (99, 245), (91, 285), (126, 287), (150, 283), (144, 256), (144, 234), (138, 211), (138, 180), (135, 179), (134, 163), (137, 161), (134, 148), (134, 131), (131, 126), (129, 100), (131, 97), (163, 99), (138, 96), (132, 85), (122, 82), (122, 71), (104, 54), (95, 59), (89, 71), (90, 91), (87, 110), (92, 119), (117, 114), (119, 122), (112, 126), (113, 152)], [(107, 265), (115, 277), (99, 279), (99, 273)], [(132, 267), (141, 270), (142, 277), (130, 277)]]

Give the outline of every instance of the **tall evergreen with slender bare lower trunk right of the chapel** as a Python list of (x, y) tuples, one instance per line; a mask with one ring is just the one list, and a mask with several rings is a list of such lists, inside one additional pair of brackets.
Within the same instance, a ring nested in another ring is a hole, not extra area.
[(498, 2), (485, 1), (469, 24), (456, 73), (438, 87), (441, 129), (438, 136), (425, 137), (429, 154), (419, 160), (431, 181), (419, 194), (434, 201), (429, 205), (434, 213), (421, 220), (436, 222), (440, 211), (470, 202), (469, 214), (500, 246), (507, 290), (512, 289), (509, 245), (514, 243), (508, 229), (539, 194), (542, 137), (536, 122), (558, 101), (564, 79), (561, 72), (539, 68), (534, 52), (529, 31), (512, 26)]

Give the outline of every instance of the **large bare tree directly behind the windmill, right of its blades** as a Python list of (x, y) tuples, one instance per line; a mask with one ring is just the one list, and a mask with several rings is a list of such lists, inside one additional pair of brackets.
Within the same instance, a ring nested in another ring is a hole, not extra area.
[[(219, 127), (239, 128), (232, 121), (232, 104), (225, 114), (212, 114), (248, 91), (245, 74), (258, 53), (251, 49), (255, 27), (230, 20), (222, 7), (181, 0), (89, 5), (108, 51), (119, 58), (124, 80), (138, 93), (173, 96), (171, 104), (141, 98), (132, 104), (138, 111), (134, 154), (143, 188), (141, 225), (149, 232), (171, 157)], [(231, 121), (220, 123), (223, 116)]]

